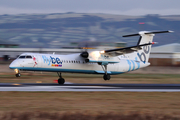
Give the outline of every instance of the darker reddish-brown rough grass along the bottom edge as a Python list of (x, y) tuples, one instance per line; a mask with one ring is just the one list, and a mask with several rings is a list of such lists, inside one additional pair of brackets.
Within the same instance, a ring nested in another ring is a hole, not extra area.
[(49, 113), (49, 112), (10, 112), (0, 115), (2, 120), (179, 120), (180, 117), (162, 114), (142, 113)]

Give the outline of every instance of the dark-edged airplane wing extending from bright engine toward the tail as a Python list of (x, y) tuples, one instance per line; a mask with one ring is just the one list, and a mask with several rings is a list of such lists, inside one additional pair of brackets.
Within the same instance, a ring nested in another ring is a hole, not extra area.
[(127, 53), (132, 53), (137, 50), (141, 50), (142, 46), (147, 46), (147, 45), (152, 45), (152, 43), (146, 43), (146, 44), (141, 44), (137, 46), (131, 46), (131, 47), (125, 47), (125, 48), (117, 48), (117, 49), (111, 49), (111, 50), (104, 50), (101, 51), (101, 54), (106, 54), (110, 56), (119, 56)]

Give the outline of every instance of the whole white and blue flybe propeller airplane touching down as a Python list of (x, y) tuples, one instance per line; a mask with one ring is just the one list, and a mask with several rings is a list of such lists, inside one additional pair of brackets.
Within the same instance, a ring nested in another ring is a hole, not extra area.
[(139, 36), (137, 45), (100, 51), (83, 51), (69, 55), (23, 53), (10, 65), (16, 77), (20, 71), (57, 72), (58, 83), (63, 85), (65, 79), (61, 73), (102, 74), (104, 80), (110, 80), (111, 75), (122, 74), (150, 65), (148, 62), (151, 46), (155, 44), (153, 37), (158, 33), (173, 31), (140, 31), (137, 34), (123, 37)]

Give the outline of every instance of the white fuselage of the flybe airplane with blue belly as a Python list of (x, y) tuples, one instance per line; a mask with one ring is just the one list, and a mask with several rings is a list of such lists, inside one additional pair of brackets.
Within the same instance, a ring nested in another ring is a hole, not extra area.
[[(132, 56), (132, 55), (129, 55)], [(121, 74), (146, 67), (149, 63), (137, 61), (129, 58), (128, 55), (113, 57), (116, 63), (107, 65), (108, 74)], [(103, 65), (96, 62), (85, 62), (85, 59), (79, 54), (55, 55), (24, 53), (14, 60), (10, 66), (11, 69), (27, 71), (48, 71), (48, 72), (69, 72), (69, 73), (88, 73), (104, 74)]]

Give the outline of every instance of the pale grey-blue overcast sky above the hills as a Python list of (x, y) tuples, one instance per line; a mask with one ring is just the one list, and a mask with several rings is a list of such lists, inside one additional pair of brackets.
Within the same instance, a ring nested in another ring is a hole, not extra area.
[(65, 12), (180, 15), (180, 0), (0, 0), (0, 15)]

